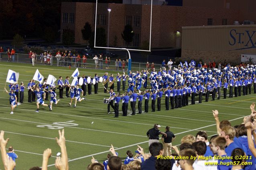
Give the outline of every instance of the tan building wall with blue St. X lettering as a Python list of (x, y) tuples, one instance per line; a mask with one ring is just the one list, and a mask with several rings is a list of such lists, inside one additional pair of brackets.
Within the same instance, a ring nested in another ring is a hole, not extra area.
[(183, 27), (184, 60), (240, 62), (241, 54), (256, 54), (256, 25)]

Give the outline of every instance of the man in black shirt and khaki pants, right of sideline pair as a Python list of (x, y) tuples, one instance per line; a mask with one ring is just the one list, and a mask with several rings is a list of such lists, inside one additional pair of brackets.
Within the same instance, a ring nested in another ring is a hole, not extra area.
[(173, 132), (170, 132), (170, 127), (165, 127), (167, 136), (162, 136), (162, 142), (164, 145), (164, 156), (171, 156), (172, 154), (172, 142), (175, 140), (176, 136), (173, 134)]

